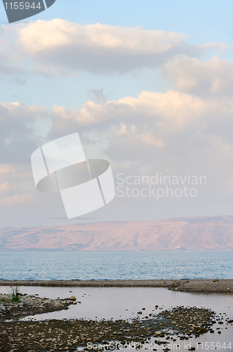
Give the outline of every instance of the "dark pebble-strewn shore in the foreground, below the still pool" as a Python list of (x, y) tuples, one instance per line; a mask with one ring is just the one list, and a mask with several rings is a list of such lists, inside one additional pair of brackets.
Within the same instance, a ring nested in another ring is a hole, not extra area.
[[(221, 334), (222, 329), (232, 328), (233, 320), (226, 315), (217, 316), (205, 308), (176, 307), (171, 310), (149, 314), (144, 319), (127, 320), (48, 320), (1, 322), (0, 351), (9, 352), (57, 352), (96, 350), (95, 346), (112, 344), (121, 346), (153, 343), (170, 351), (169, 344), (180, 344), (180, 340), (192, 341), (206, 332)], [(143, 308), (142, 308), (143, 309)], [(213, 328), (215, 325), (215, 328)], [(197, 344), (196, 344), (197, 345)], [(191, 343), (190, 345), (191, 346)], [(100, 349), (100, 348), (99, 348)], [(161, 349), (158, 347), (158, 349)], [(102, 348), (103, 350), (103, 348)], [(154, 348), (157, 351), (157, 348)]]

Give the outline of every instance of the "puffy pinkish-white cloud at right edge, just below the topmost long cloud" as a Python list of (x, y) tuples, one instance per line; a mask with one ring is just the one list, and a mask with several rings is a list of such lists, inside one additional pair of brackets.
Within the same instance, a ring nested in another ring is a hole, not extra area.
[(177, 89), (200, 96), (233, 93), (233, 63), (214, 56), (206, 63), (186, 55), (175, 56), (162, 68)]

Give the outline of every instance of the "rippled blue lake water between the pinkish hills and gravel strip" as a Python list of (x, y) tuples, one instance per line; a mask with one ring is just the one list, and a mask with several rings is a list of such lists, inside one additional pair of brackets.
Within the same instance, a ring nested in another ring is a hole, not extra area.
[(231, 279), (232, 259), (232, 251), (0, 252), (0, 280)]

